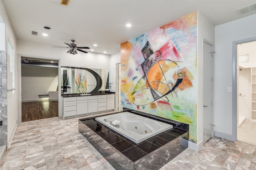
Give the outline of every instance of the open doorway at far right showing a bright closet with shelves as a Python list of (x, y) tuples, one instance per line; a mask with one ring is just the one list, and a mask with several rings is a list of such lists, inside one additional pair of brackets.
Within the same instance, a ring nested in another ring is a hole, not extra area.
[(256, 145), (256, 41), (236, 44), (237, 140)]

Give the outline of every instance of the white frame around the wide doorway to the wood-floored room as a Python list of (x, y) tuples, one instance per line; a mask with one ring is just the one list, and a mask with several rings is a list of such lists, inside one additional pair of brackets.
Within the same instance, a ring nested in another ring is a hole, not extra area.
[(59, 58), (48, 58), (48, 57), (39, 57), (39, 56), (33, 56), (33, 55), (22, 55), (18, 54), (18, 123), (21, 123), (21, 57), (29, 57), (29, 58), (36, 58), (36, 59), (48, 59), (48, 60), (55, 60), (58, 61), (58, 117), (62, 117), (62, 103), (61, 103), (61, 59)]

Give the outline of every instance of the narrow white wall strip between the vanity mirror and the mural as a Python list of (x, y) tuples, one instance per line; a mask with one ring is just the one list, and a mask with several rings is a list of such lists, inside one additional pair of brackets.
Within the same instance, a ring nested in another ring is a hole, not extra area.
[(116, 64), (120, 63), (120, 60), (120, 52), (110, 55), (110, 82), (113, 82), (110, 92), (116, 92)]

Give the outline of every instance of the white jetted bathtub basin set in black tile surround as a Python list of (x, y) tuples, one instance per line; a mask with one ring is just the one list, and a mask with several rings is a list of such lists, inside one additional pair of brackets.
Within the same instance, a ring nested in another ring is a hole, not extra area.
[[(108, 118), (106, 119), (106, 122), (103, 121), (105, 118)], [(120, 133), (135, 143), (140, 143), (150, 137), (153, 137), (154, 135), (173, 128), (172, 125), (167, 123), (149, 119), (130, 112), (96, 117), (95, 120), (106, 125), (107, 127), (110, 127), (114, 131)], [(119, 128), (115, 127), (114, 125), (110, 125), (110, 121), (113, 122), (115, 120), (120, 121), (120, 123), (118, 123)]]

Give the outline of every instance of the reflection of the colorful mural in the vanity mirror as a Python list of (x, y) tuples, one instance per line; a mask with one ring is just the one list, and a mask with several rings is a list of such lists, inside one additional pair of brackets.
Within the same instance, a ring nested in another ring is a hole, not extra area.
[(86, 70), (75, 69), (75, 93), (87, 92)]

